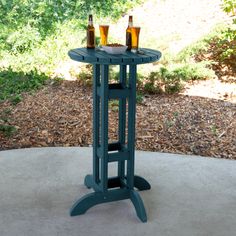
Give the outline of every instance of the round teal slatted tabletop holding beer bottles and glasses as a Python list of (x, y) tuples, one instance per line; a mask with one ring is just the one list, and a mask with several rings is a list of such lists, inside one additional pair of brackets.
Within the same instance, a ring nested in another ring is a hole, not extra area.
[(99, 49), (76, 48), (68, 52), (72, 60), (106, 65), (137, 65), (158, 61), (161, 52), (148, 48), (141, 48), (140, 53), (126, 51), (124, 54), (108, 54)]

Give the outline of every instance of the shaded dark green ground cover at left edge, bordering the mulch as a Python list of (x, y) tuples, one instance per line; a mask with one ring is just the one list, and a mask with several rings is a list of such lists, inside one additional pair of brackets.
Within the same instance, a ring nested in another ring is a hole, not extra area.
[(48, 77), (36, 71), (24, 73), (11, 68), (0, 71), (0, 100), (11, 98), (13, 104), (21, 101), (22, 92), (39, 89)]

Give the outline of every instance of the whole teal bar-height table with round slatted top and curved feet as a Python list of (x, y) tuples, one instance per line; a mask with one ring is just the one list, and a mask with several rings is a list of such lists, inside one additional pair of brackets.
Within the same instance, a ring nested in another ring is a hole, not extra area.
[[(143, 48), (142, 54), (126, 51), (110, 55), (97, 49), (76, 48), (68, 54), (72, 60), (93, 65), (93, 173), (85, 176), (84, 184), (94, 192), (80, 198), (70, 215), (84, 214), (96, 204), (130, 199), (139, 219), (146, 222), (144, 204), (135, 188), (141, 191), (151, 186), (134, 175), (137, 65), (158, 61), (161, 53)], [(119, 65), (118, 83), (109, 83), (109, 65)], [(118, 140), (114, 143), (108, 139), (109, 99), (119, 101)], [(117, 176), (112, 178), (108, 177), (110, 162), (118, 163)]]

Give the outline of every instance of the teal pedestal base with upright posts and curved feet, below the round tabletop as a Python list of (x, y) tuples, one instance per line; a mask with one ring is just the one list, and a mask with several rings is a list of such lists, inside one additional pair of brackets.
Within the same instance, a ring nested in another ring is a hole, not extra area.
[[(126, 70), (127, 66), (120, 66), (121, 89), (127, 89)], [(93, 188), (95, 192), (80, 198), (72, 206), (70, 211), (71, 216), (84, 214), (89, 208), (100, 203), (130, 199), (139, 219), (142, 222), (147, 221), (143, 201), (139, 193), (134, 190), (134, 187), (139, 190), (151, 188), (150, 184), (144, 178), (134, 175), (136, 70), (136, 65), (130, 65), (129, 94), (127, 98), (118, 95), (119, 148), (117, 148), (117, 154), (119, 158), (116, 160), (118, 162), (118, 176), (108, 178), (109, 150), (118, 147), (116, 146), (117, 144), (108, 144), (108, 100), (109, 93), (112, 92), (109, 90), (108, 84), (109, 66), (94, 65), (93, 67), (93, 174), (85, 177), (84, 184), (88, 188)], [(128, 137), (126, 140), (127, 99)], [(126, 159), (122, 158), (125, 152), (128, 153)], [(125, 160), (127, 161), (126, 174)]]

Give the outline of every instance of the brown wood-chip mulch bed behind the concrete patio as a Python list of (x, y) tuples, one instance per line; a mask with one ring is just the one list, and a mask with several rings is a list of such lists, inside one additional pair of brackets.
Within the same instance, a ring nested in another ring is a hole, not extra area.
[[(12, 106), (6, 124), (17, 132), (0, 132), (0, 150), (89, 146), (92, 143), (92, 91), (76, 81), (48, 85)], [(148, 95), (137, 105), (136, 148), (236, 159), (236, 104), (185, 95)], [(109, 137), (117, 138), (117, 107), (109, 111)]]

